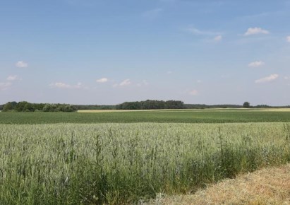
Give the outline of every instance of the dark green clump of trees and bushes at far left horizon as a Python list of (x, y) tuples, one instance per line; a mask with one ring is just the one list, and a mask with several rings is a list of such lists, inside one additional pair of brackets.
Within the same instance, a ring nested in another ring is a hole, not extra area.
[(13, 101), (2, 105), (3, 112), (75, 112), (76, 110), (73, 105), (68, 104), (30, 103), (26, 101)]

